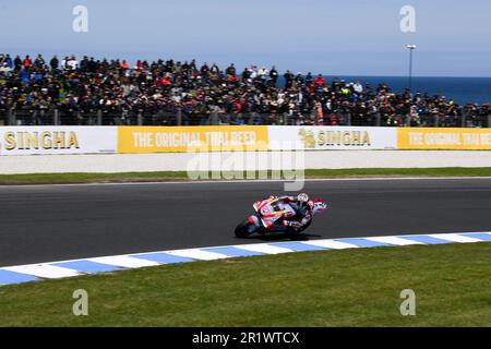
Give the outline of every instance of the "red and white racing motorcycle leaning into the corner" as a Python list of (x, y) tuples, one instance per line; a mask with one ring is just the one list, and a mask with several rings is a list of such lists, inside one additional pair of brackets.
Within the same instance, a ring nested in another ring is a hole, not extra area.
[[(275, 222), (279, 222), (285, 217), (290, 217), (296, 214), (296, 210), (289, 204), (283, 204), (278, 197), (272, 196), (270, 198), (258, 201), (253, 204), (255, 213), (242, 222), (240, 222), (236, 230), (236, 237), (249, 238), (252, 234), (264, 233), (300, 233), (306, 230), (312, 222), (312, 219), (302, 228), (283, 227), (284, 230), (275, 230)], [(327, 203), (322, 198), (313, 201), (313, 216), (327, 209)]]

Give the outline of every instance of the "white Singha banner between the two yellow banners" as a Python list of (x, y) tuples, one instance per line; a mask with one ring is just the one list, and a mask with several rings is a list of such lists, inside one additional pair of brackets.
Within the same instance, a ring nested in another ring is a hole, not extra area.
[(270, 127), (270, 149), (395, 149), (393, 128)]

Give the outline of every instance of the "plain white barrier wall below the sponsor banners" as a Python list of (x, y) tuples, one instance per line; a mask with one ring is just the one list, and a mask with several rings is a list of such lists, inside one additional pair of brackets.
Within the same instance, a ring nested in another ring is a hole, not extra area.
[[(215, 153), (214, 168), (227, 168), (237, 153)], [(271, 156), (272, 152), (250, 154), (254, 159)], [(194, 154), (107, 154), (107, 155), (39, 155), (0, 156), (0, 174), (64, 173), (64, 172), (143, 172), (185, 171)], [(216, 158), (215, 158), (216, 159)], [(259, 164), (259, 161), (258, 161)], [(266, 165), (271, 168), (274, 163)], [(491, 152), (472, 151), (346, 151), (306, 152), (307, 169), (342, 168), (429, 168), (429, 167), (491, 167)], [(251, 164), (235, 170), (253, 169)], [(264, 169), (262, 166), (261, 169)], [(288, 168), (287, 168), (288, 169)]]

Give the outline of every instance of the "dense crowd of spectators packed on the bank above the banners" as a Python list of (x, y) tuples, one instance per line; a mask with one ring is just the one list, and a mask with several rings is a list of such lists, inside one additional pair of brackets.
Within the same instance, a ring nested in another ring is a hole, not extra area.
[[(331, 79), (330, 79), (331, 80)], [(0, 122), (22, 124), (488, 125), (489, 104), (370, 86), (273, 65), (238, 71), (195, 60), (45, 60), (0, 55)], [(139, 119), (140, 117), (140, 119)]]

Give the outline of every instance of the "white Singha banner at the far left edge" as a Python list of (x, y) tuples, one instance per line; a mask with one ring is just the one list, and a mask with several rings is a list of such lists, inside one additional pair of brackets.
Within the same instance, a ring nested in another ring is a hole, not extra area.
[(0, 128), (0, 156), (116, 152), (115, 127)]

